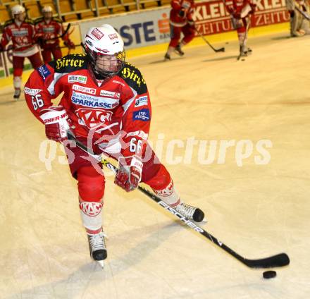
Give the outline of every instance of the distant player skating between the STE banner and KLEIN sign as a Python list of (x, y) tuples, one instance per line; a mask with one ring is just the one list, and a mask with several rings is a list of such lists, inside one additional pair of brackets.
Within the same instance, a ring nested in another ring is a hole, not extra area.
[[(194, 0), (172, 0), (170, 11), (171, 41), (165, 54), (165, 60), (171, 59), (171, 53), (183, 56), (182, 47), (188, 44), (195, 35), (195, 24), (192, 18)], [(184, 37), (180, 42), (181, 33)]]

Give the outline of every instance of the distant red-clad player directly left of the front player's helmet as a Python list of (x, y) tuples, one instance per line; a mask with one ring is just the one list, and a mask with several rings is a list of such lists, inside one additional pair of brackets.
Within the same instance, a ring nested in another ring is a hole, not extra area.
[[(48, 63), (51, 61), (51, 54), (53, 54), (55, 60), (63, 56), (59, 46), (59, 39), (55, 39), (55, 37), (60, 37), (64, 30), (61, 20), (53, 17), (53, 8), (51, 6), (44, 6), (42, 15), (42, 18), (35, 20), (35, 30), (37, 38), (41, 41), (44, 63)], [(75, 45), (68, 34), (63, 36), (63, 41), (68, 49), (75, 49)]]

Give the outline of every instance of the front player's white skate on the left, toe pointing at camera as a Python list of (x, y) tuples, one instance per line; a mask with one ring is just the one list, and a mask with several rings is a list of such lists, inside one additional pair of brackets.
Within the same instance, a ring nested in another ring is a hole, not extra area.
[(92, 260), (98, 262), (102, 268), (104, 268), (104, 260), (108, 256), (106, 252), (106, 243), (104, 241), (104, 232), (90, 235), (87, 233), (89, 253)]

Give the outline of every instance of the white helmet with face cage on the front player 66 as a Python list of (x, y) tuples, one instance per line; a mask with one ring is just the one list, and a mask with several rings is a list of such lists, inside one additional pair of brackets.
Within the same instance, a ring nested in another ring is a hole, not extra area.
[[(111, 77), (125, 63), (123, 39), (109, 24), (90, 28), (85, 35), (84, 49), (95, 75)], [(100, 65), (99, 61), (104, 60), (105, 56), (109, 56), (109, 63), (105, 61)], [(110, 56), (114, 56), (113, 59)]]

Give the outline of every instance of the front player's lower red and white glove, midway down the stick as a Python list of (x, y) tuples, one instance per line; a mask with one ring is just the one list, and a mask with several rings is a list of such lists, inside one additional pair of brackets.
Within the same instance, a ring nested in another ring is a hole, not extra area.
[(120, 157), (118, 162), (118, 173), (116, 173), (114, 183), (127, 192), (135, 190), (142, 177), (143, 163), (141, 159), (137, 156)]

